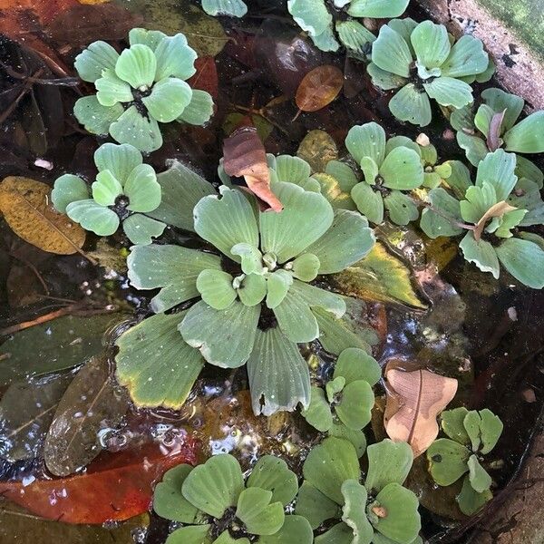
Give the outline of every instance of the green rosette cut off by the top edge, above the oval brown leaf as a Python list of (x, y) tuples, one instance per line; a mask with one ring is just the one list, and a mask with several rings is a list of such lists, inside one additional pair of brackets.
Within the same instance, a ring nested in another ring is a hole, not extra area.
[(384, 19), (403, 15), (410, 0), (288, 0), (287, 9), (322, 51), (337, 51), (366, 60), (376, 36), (357, 19)]

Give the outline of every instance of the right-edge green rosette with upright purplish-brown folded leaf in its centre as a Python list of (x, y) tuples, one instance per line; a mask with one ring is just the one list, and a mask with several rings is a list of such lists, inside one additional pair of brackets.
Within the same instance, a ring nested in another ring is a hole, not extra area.
[(471, 164), (478, 166), (488, 153), (500, 148), (517, 153), (518, 176), (536, 181), (542, 188), (542, 172), (520, 154), (544, 152), (544, 111), (519, 121), (524, 104), (515, 94), (486, 89), (477, 110), (474, 104), (465, 106), (452, 112), (450, 121)]

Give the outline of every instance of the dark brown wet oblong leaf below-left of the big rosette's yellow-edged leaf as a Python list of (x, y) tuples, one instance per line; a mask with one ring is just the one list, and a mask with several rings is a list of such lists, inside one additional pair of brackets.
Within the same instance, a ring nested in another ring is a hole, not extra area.
[(117, 385), (105, 355), (92, 357), (73, 378), (45, 437), (44, 458), (55, 476), (68, 476), (102, 450), (99, 432), (115, 427), (129, 409), (125, 389)]

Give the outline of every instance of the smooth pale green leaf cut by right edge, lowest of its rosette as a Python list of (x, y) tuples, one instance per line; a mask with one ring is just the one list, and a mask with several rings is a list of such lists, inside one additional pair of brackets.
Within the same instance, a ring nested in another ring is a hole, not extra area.
[(522, 284), (544, 287), (544, 251), (537, 244), (520, 238), (508, 238), (496, 248), (500, 264)]

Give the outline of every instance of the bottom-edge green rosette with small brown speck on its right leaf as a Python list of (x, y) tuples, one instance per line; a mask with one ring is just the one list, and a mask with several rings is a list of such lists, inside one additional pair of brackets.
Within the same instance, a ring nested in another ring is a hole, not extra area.
[[(335, 525), (314, 539), (316, 544), (412, 544), (422, 542), (419, 501), (403, 487), (413, 452), (405, 442), (385, 439), (369, 446), (368, 471), (361, 473), (354, 446), (327, 438), (307, 456), (296, 514), (312, 529)], [(364, 483), (361, 483), (364, 481)]]

